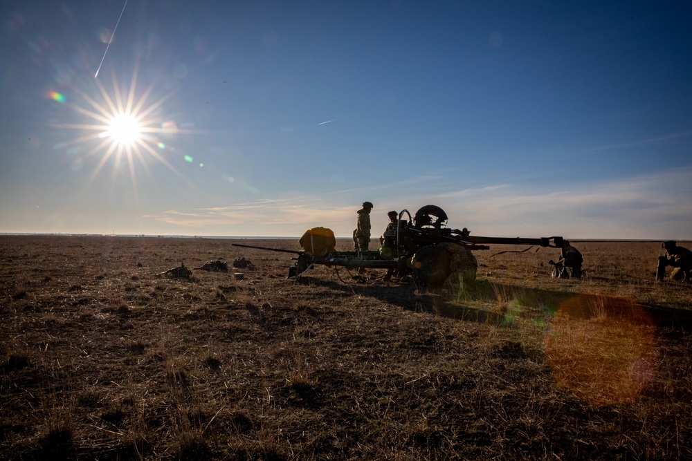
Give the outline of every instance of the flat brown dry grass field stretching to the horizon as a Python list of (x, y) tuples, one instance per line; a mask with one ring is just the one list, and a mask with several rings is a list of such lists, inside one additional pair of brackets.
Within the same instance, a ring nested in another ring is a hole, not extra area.
[(692, 459), (692, 285), (655, 283), (658, 243), (573, 242), (566, 281), (498, 245), (429, 291), (231, 243), (0, 236), (0, 459)]

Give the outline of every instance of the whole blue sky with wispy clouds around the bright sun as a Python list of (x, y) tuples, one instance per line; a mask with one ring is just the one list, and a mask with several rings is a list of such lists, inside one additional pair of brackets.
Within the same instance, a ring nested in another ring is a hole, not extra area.
[(692, 238), (690, 3), (124, 4), (1, 3), (0, 232)]

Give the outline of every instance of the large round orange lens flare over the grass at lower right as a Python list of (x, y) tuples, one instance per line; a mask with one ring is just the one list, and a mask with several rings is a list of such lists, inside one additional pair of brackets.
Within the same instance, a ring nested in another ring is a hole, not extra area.
[(561, 303), (545, 352), (556, 382), (574, 395), (623, 404), (655, 375), (655, 327), (633, 301), (581, 294)]

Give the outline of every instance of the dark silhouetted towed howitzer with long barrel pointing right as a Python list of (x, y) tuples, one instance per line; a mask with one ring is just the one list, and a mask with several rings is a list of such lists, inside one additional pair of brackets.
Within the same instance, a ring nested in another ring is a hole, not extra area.
[[(408, 216), (408, 219), (406, 217)], [(380, 242), (381, 248), (367, 252), (327, 251), (316, 254), (310, 251), (301, 238), (303, 251), (282, 250), (278, 248), (256, 247), (253, 245), (234, 246), (257, 248), (297, 254), (296, 262), (289, 267), (289, 277), (299, 276), (313, 265), (327, 265), (367, 269), (387, 269), (399, 274), (412, 274), (421, 285), (443, 285), (455, 272), (464, 281), (475, 279), (478, 267), (472, 251), (489, 250), (495, 245), (539, 245), (541, 247), (561, 248), (563, 238), (558, 236), (541, 238), (522, 237), (483, 237), (471, 236), (468, 229), (446, 227), (447, 215), (436, 205), (426, 205), (412, 217), (408, 210), (399, 213), (396, 225), (390, 223)], [(325, 228), (316, 228), (322, 229)], [(314, 229), (311, 229), (314, 230)], [(328, 229), (327, 229), (328, 230)], [(331, 231), (330, 231), (331, 232)]]

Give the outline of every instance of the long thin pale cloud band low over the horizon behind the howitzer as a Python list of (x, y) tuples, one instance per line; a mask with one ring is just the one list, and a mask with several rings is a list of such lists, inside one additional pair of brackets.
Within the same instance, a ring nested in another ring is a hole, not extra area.
[[(373, 201), (373, 236), (384, 229), (390, 209), (411, 214), (439, 205), (449, 227), (468, 227), (475, 235), (553, 236), (568, 238), (692, 238), (692, 168), (681, 168), (617, 181), (570, 187), (488, 185), (475, 189), (419, 194), (412, 178), (335, 194), (286, 193), (226, 207), (166, 211), (149, 218), (215, 235), (300, 236), (316, 226), (349, 236), (360, 201)], [(386, 194), (376, 194), (376, 192)]]

